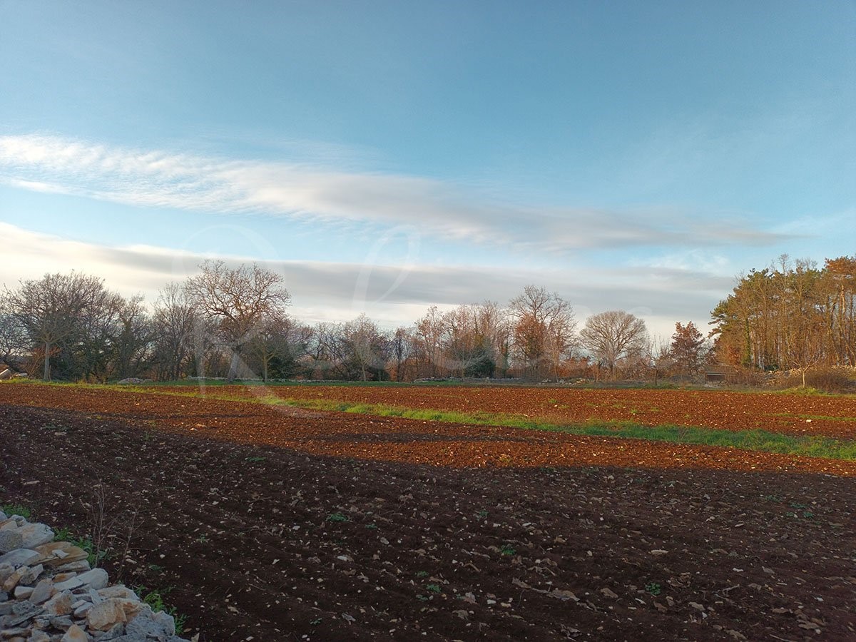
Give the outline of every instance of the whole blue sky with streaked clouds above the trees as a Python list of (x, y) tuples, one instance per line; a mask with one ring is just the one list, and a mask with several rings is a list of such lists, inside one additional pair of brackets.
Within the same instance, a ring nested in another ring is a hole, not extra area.
[(707, 328), (856, 255), (856, 2), (0, 0), (0, 284), (204, 259), (306, 322), (526, 284)]

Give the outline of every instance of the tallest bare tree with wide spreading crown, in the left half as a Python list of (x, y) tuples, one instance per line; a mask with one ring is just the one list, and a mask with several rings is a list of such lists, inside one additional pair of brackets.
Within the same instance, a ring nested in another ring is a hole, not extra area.
[(233, 270), (223, 261), (204, 261), (199, 269), (198, 275), (187, 278), (187, 296), (232, 351), (227, 379), (233, 381), (241, 349), (265, 318), (284, 314), (291, 297), (281, 285), (281, 275), (256, 264)]

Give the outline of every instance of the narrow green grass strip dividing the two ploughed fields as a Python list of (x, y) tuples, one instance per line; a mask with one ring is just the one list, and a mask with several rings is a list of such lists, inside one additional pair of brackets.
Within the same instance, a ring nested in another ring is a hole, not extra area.
[[(385, 383), (385, 382), (384, 382)], [(80, 384), (52, 383), (51, 385)], [(134, 386), (91, 385), (87, 388), (111, 389), (120, 392), (143, 394), (198, 396), (192, 391), (161, 391), (152, 388)], [(230, 395), (217, 391), (205, 395), (207, 399), (222, 401), (241, 401), (244, 403), (262, 403), (270, 406), (300, 407), (309, 410), (334, 411), (340, 413), (371, 414), (380, 417), (401, 417), (421, 421), (437, 421), (464, 425), (496, 425), (526, 430), (564, 432), (571, 435), (592, 437), (615, 437), (645, 439), (654, 442), (687, 443), (723, 448), (757, 450), (781, 455), (799, 455), (823, 457), (845, 461), (856, 461), (856, 441), (834, 439), (818, 435), (797, 436), (777, 432), (752, 430), (728, 431), (704, 426), (656, 425), (647, 426), (626, 421), (590, 421), (577, 424), (557, 424), (550, 421), (531, 419), (508, 413), (461, 413), (434, 408), (408, 408), (388, 404), (355, 403), (331, 399), (283, 399), (276, 395)], [(846, 419), (845, 419), (846, 420)]]

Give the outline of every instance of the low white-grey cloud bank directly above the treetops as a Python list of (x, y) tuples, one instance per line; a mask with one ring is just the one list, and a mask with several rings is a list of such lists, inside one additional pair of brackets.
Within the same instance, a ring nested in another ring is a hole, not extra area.
[[(196, 269), (199, 254), (166, 247), (108, 247), (69, 241), (0, 223), (4, 241), (0, 285), (77, 270), (102, 276), (125, 296), (152, 303), (167, 282)], [(252, 257), (223, 257), (229, 263)], [(704, 327), (709, 312), (731, 288), (731, 278), (677, 267), (614, 270), (499, 270), (487, 267), (369, 265), (318, 261), (259, 261), (282, 274), (291, 312), (306, 322), (341, 321), (360, 312), (387, 327), (411, 324), (428, 306), (495, 300), (504, 305), (529, 283), (556, 291), (583, 321), (591, 313), (625, 309), (646, 319), (652, 332), (670, 335), (675, 321)]]

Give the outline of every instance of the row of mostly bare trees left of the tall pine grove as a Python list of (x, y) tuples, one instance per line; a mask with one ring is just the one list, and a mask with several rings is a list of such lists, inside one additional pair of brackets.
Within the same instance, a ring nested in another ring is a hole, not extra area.
[(4, 288), (0, 361), (46, 380), (259, 377), (413, 381), (446, 377), (648, 377), (692, 374), (706, 343), (691, 323), (655, 345), (644, 320), (620, 310), (578, 321), (567, 300), (526, 286), (447, 311), (431, 306), (384, 330), (361, 314), (305, 324), (288, 315), (282, 276), (259, 265), (205, 261), (147, 308), (97, 276), (47, 274)]

